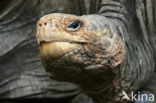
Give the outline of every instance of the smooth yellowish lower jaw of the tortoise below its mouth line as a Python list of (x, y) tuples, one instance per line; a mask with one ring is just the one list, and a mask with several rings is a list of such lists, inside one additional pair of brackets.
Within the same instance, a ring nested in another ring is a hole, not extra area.
[(40, 42), (40, 54), (45, 59), (59, 59), (65, 54), (82, 48), (86, 43), (66, 41), (42, 41)]

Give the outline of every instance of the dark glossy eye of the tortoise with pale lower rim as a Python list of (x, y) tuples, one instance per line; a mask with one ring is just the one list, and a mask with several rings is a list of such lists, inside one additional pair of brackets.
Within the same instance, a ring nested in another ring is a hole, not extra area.
[(72, 21), (71, 24), (68, 26), (69, 31), (76, 31), (80, 28), (81, 22), (78, 20)]

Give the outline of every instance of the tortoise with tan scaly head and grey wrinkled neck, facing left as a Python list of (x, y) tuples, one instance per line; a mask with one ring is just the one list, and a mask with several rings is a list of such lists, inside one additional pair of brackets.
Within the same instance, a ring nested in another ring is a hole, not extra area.
[[(152, 1), (146, 2), (148, 7)], [(154, 28), (148, 28), (152, 15), (142, 5), (141, 0), (102, 0), (98, 14), (43, 16), (36, 38), (49, 77), (76, 84), (95, 103), (155, 103), (149, 37)]]

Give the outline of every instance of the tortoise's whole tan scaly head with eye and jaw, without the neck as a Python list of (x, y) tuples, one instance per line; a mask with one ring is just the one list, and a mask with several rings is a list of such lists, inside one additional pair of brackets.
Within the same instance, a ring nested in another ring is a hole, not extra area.
[(45, 15), (36, 37), (47, 73), (59, 81), (80, 83), (109, 74), (125, 59), (114, 24), (98, 15)]

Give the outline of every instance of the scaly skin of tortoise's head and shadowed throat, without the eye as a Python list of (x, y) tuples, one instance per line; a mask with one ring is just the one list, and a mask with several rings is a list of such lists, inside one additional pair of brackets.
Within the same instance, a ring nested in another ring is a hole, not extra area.
[[(80, 28), (68, 30), (74, 20), (81, 22)], [(98, 15), (49, 14), (38, 21), (36, 37), (53, 79), (77, 84), (96, 103), (121, 102), (122, 91), (128, 92), (130, 83), (120, 71), (126, 64), (125, 45), (113, 21)]]

